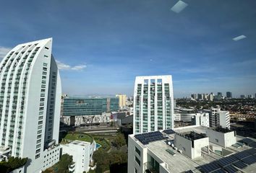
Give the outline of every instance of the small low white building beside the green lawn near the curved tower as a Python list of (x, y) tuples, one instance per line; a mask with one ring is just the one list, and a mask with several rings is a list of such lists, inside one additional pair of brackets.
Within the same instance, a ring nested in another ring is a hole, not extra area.
[(90, 161), (93, 159), (93, 152), (96, 150), (96, 143), (85, 141), (72, 141), (68, 144), (61, 144), (62, 154), (73, 156), (74, 164), (69, 167), (70, 172), (88, 172)]

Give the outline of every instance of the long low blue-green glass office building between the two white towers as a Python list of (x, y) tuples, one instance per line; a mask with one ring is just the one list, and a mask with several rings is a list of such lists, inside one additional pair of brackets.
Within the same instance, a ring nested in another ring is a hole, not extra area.
[(111, 121), (111, 112), (119, 110), (119, 98), (66, 97), (61, 110), (61, 118), (67, 125), (107, 123)]

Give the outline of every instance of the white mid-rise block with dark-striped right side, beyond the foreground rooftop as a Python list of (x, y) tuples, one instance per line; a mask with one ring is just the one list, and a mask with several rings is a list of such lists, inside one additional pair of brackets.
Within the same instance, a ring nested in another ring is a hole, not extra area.
[(219, 107), (203, 111), (209, 113), (210, 127), (230, 128), (229, 111), (223, 111)]

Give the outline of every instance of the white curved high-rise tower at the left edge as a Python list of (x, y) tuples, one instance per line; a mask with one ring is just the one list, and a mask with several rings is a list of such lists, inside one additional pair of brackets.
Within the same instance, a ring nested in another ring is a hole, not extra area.
[(17, 45), (0, 63), (0, 156), (28, 157), (25, 172), (59, 161), (61, 80), (51, 45)]

